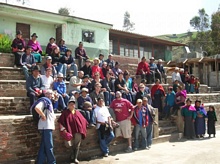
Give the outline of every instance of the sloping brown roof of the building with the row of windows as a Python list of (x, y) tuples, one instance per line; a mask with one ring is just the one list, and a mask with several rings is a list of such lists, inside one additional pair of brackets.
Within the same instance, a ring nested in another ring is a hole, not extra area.
[(121, 35), (129, 38), (134, 38), (134, 39), (139, 39), (142, 41), (150, 41), (158, 44), (164, 44), (168, 46), (186, 46), (186, 44), (181, 44), (177, 42), (171, 42), (168, 40), (163, 40), (163, 39), (158, 39), (155, 37), (147, 36), (147, 35), (142, 35), (142, 34), (136, 34), (132, 32), (127, 32), (127, 31), (122, 31), (122, 30), (116, 30), (116, 29), (110, 29), (109, 31), (110, 35)]

